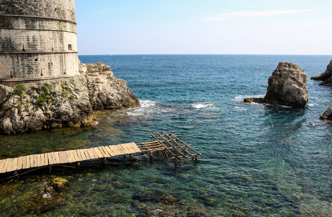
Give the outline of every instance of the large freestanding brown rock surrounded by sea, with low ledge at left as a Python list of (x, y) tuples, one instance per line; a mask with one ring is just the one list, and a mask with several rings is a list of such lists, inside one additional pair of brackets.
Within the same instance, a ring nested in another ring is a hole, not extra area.
[[(303, 69), (290, 62), (279, 62), (268, 80), (264, 103), (304, 107), (309, 101), (306, 87), (307, 75)], [(244, 102), (259, 102), (259, 98), (246, 98)]]

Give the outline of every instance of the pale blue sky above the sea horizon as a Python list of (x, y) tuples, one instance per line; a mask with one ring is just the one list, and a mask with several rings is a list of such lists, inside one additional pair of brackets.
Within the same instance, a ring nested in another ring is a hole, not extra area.
[(331, 0), (76, 0), (79, 55), (331, 54)]

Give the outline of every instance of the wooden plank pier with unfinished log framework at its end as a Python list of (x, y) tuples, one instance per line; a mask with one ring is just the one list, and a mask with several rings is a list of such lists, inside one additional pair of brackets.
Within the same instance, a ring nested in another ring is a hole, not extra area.
[[(183, 159), (196, 160), (198, 156), (202, 156), (193, 148), (191, 144), (187, 145), (180, 139), (178, 139), (175, 134), (168, 131), (166, 133), (157, 133), (157, 135), (151, 134), (151, 142), (146, 143), (125, 143), (120, 145), (110, 145), (110, 146), (100, 146), (90, 149), (77, 149), (69, 151), (60, 152), (50, 152), (38, 155), (22, 156), (18, 158), (3, 159), (0, 160), (0, 173), (11, 173), (13, 172), (15, 176), (19, 175), (18, 171), (49, 167), (49, 171), (53, 165), (76, 163), (78, 168), (80, 166), (79, 162), (103, 158), (106, 164), (106, 158), (111, 158), (113, 156), (126, 155), (129, 154), (130, 160), (141, 158), (144, 156), (149, 156), (150, 159), (154, 158), (153, 154), (155, 152), (161, 153), (160, 156), (165, 156), (169, 160), (173, 160), (175, 165), (178, 163), (182, 164)], [(133, 158), (132, 154), (141, 153), (140, 156)], [(70, 166), (71, 167), (71, 166)], [(75, 167), (74, 167), (75, 168)], [(32, 171), (32, 170), (31, 170)], [(23, 173), (21, 173), (23, 174)]]

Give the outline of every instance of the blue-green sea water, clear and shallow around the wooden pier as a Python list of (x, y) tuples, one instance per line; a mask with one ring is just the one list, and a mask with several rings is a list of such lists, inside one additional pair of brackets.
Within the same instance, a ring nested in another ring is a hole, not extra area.
[[(105, 61), (115, 69), (117, 78), (128, 82), (142, 106), (103, 112), (91, 128), (1, 136), (1, 159), (145, 142), (149, 132), (167, 130), (193, 144), (205, 158), (176, 169), (162, 158), (128, 165), (119, 157), (109, 161), (108, 167), (94, 161), (82, 165), (91, 168), (87, 170), (54, 168), (51, 175), (45, 170), (0, 186), (2, 216), (146, 216), (146, 207), (169, 209), (174, 216), (190, 216), (190, 210), (195, 209), (210, 216), (332, 215), (332, 125), (318, 119), (331, 104), (331, 88), (309, 80), (326, 69), (331, 56), (79, 58), (83, 63)], [(243, 103), (245, 97), (265, 95), (268, 77), (279, 61), (293, 62), (305, 70), (308, 105), (289, 108)], [(71, 186), (62, 203), (42, 214), (29, 201), (56, 176), (66, 178)], [(135, 197), (138, 190), (150, 191), (156, 198), (171, 194), (177, 203), (163, 204), (154, 197), (139, 200)]]

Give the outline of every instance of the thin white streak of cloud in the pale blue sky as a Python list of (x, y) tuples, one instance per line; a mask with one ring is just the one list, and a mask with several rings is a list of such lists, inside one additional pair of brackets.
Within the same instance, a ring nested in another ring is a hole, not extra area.
[(246, 18), (246, 17), (266, 17), (266, 16), (293, 14), (293, 13), (301, 13), (308, 11), (314, 11), (314, 10), (236, 11), (225, 14), (215, 14), (209, 17), (203, 17), (202, 19), (208, 21), (235, 21), (240, 18)]

